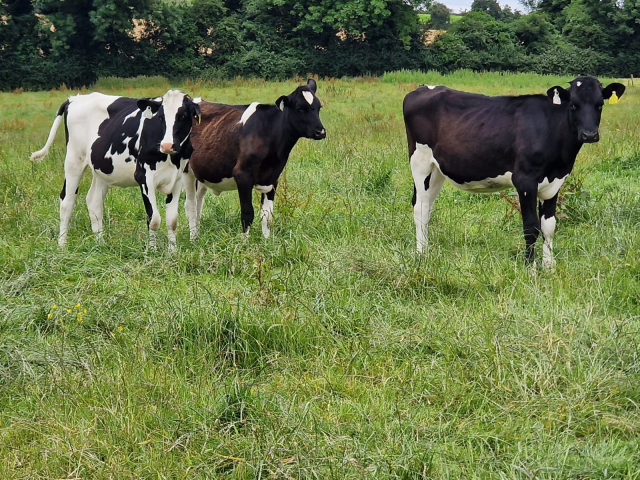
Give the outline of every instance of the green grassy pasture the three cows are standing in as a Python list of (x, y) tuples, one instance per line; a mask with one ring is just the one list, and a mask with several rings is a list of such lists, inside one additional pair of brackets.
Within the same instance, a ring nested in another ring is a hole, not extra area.
[[(450, 186), (414, 255), (404, 95), (568, 80), (320, 79), (328, 136), (294, 149), (272, 238), (243, 243), (235, 192), (208, 195), (194, 244), (181, 206), (174, 254), (164, 227), (148, 249), (137, 189), (110, 191), (96, 244), (89, 174), (58, 250), (64, 135), (29, 154), (72, 92), (1, 93), (0, 478), (640, 478), (637, 88), (563, 187), (554, 274), (525, 267), (504, 199)], [(249, 103), (296, 85), (172, 86)]]

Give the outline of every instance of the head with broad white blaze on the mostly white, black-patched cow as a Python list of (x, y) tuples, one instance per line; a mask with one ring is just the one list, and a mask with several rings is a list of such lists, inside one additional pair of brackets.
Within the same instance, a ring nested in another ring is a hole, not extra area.
[(179, 90), (169, 90), (158, 98), (142, 98), (138, 108), (144, 118), (154, 118), (162, 125), (158, 151), (164, 155), (180, 151), (189, 138), (193, 119), (200, 118), (198, 104)]

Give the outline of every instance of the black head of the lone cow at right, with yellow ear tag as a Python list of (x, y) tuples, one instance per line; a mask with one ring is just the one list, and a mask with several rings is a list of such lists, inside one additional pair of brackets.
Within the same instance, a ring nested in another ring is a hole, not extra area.
[(613, 92), (621, 97), (625, 86), (621, 83), (612, 83), (605, 88), (595, 77), (578, 77), (569, 82), (570, 87), (551, 87), (547, 95), (555, 105), (563, 105), (568, 108), (569, 122), (578, 135), (580, 143), (594, 143), (600, 139), (598, 127), (604, 101), (611, 97)]

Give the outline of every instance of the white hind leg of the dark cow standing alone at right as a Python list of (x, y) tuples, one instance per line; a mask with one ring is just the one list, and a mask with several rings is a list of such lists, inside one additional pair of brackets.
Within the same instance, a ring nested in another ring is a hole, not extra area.
[(426, 145), (419, 145), (411, 154), (413, 175), (413, 220), (416, 224), (416, 247), (422, 253), (428, 244), (427, 229), (431, 210), (445, 177), (433, 163), (433, 152)]

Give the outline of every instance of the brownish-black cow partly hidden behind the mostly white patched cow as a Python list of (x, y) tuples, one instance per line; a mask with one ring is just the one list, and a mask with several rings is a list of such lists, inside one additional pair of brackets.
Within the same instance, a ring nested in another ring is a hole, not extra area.
[(315, 80), (309, 79), (275, 105), (200, 103), (202, 123), (194, 125), (191, 133), (194, 152), (184, 180), (192, 240), (198, 236), (207, 190), (216, 195), (238, 190), (242, 231), (248, 234), (254, 218), (254, 188), (262, 194), (262, 234), (269, 237), (278, 177), (291, 150), (300, 138), (326, 137), (316, 89)]

